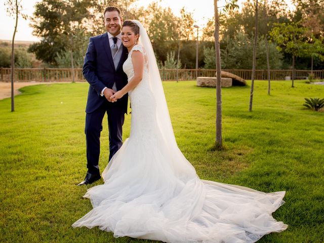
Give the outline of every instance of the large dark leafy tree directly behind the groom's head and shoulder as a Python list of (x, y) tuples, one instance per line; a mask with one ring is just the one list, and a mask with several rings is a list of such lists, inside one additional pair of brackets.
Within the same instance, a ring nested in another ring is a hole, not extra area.
[[(36, 58), (52, 66), (67, 57), (74, 67), (74, 55), (86, 52), (85, 43), (90, 36), (104, 33), (103, 12), (109, 5), (119, 7), (124, 18), (134, 18), (142, 14), (130, 8), (136, 0), (43, 0), (35, 4), (31, 18), (33, 34), (42, 39), (29, 47)], [(77, 10), (77, 11), (76, 11)], [(131, 14), (132, 13), (132, 14)], [(73, 60), (73, 61), (72, 61)]]

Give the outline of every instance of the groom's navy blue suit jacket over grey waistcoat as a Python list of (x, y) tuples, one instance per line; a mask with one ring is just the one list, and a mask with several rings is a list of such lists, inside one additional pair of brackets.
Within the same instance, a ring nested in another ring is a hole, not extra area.
[[(127, 75), (123, 71), (123, 63), (128, 56), (128, 50), (121, 44), (123, 53), (117, 68), (115, 69), (111, 56), (108, 34), (104, 33), (89, 39), (89, 45), (83, 65), (83, 75), (90, 84), (86, 112), (91, 113), (98, 109), (106, 98), (100, 93), (103, 88), (112, 88), (116, 83), (117, 91), (127, 85)], [(119, 106), (127, 113), (128, 95), (124, 95), (111, 105)]]

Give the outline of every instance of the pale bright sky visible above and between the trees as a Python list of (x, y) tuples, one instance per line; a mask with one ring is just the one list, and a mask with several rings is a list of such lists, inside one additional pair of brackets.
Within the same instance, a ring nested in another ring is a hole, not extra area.
[[(24, 13), (32, 16), (34, 12), (33, 6), (39, 0), (22, 0)], [(288, 0), (290, 1), (290, 0)], [(152, 0), (138, 0), (138, 6), (147, 6)], [(218, 1), (218, 6), (224, 6), (224, 0)], [(239, 0), (239, 3), (245, 2)], [(5, 0), (0, 0), (0, 39), (12, 39), (15, 20), (9, 17), (4, 6)], [(198, 4), (197, 4), (198, 3)], [(163, 0), (159, 2), (163, 7), (170, 7), (175, 15), (180, 14), (180, 9), (185, 6), (186, 11), (193, 12), (193, 17), (198, 26), (203, 26), (208, 18), (214, 15), (214, 1), (213, 0)], [(16, 41), (38, 41), (37, 37), (32, 35), (32, 28), (29, 27), (29, 20), (22, 18), (18, 19), (18, 31), (15, 36)]]

